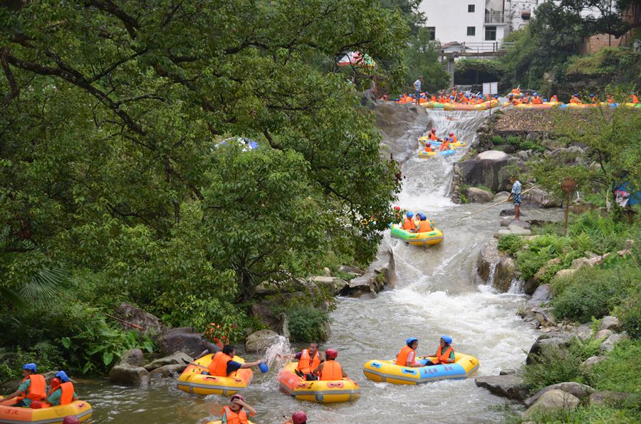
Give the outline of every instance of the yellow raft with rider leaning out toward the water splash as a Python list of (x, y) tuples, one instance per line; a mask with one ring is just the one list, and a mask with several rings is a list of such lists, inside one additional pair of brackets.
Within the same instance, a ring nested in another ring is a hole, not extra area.
[[(229, 377), (203, 374), (203, 371), (207, 371), (207, 366), (211, 364), (213, 357), (213, 354), (205, 355), (194, 361), (194, 364), (202, 365), (204, 368), (189, 364), (178, 377), (178, 388), (187, 393), (196, 393), (198, 395), (217, 394), (231, 396), (247, 387), (254, 376), (254, 372), (249, 368), (239, 369)], [(245, 362), (240, 356), (234, 356), (233, 360), (241, 364)]]

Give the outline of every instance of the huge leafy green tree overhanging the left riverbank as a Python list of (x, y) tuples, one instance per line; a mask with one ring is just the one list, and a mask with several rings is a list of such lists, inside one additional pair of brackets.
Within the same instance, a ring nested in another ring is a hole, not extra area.
[[(332, 64), (358, 50), (400, 75), (397, 11), (37, 1), (0, 22), (0, 287), (63, 267), (97, 280), (92, 302), (179, 324), (306, 277), (329, 246), (375, 254), (395, 169)], [(231, 135), (260, 149), (214, 147)]]

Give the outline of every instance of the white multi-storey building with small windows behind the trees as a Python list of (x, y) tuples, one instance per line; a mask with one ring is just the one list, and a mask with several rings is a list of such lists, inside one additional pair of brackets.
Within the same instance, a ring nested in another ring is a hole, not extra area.
[[(495, 51), (546, 0), (423, 0), (432, 38), (447, 51)], [(464, 47), (463, 47), (464, 46)]]

